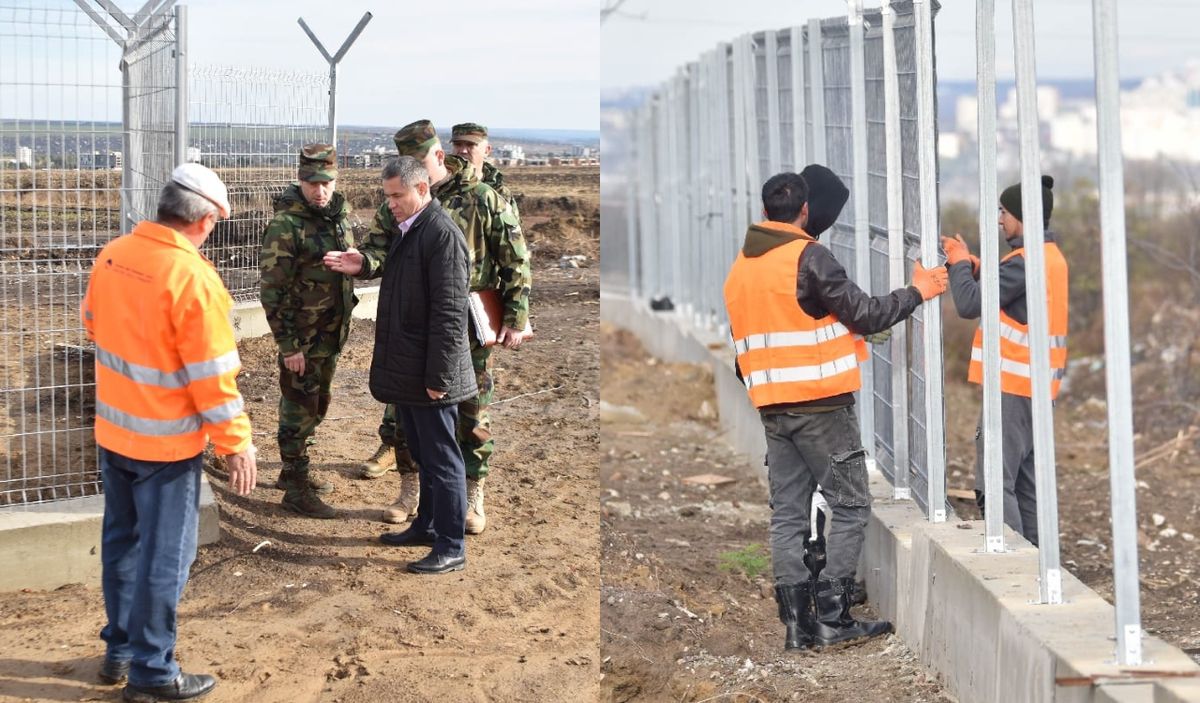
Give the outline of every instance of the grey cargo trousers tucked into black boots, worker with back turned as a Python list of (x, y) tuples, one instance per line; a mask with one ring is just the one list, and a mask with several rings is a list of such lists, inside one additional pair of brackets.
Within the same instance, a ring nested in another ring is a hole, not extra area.
[(770, 483), (770, 561), (776, 584), (804, 583), (812, 491), (821, 487), (833, 522), (826, 534), (828, 561), (822, 578), (854, 576), (863, 551), (871, 493), (866, 452), (854, 408), (829, 413), (763, 413)]

